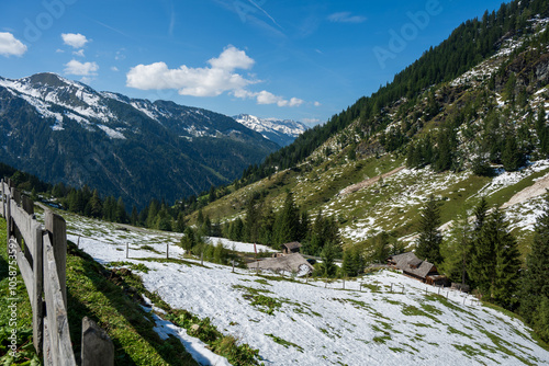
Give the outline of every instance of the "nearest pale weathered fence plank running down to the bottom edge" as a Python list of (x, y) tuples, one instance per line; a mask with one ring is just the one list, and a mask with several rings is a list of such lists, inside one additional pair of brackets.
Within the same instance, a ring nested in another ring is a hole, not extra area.
[(57, 276), (57, 264), (54, 247), (46, 233), (43, 237), (44, 247), (44, 295), (46, 298), (47, 321), (51, 354), (54, 365), (76, 365), (70, 342), (67, 310)]

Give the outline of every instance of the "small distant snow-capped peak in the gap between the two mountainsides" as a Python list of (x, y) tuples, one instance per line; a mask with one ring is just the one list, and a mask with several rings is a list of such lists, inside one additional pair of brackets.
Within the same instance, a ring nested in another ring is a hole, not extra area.
[(292, 119), (259, 118), (249, 114), (234, 116), (236, 122), (284, 147), (292, 144), (307, 127)]

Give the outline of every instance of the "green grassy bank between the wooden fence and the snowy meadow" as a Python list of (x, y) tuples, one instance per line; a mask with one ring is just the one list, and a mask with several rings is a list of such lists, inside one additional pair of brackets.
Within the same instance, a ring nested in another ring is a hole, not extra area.
[(117, 365), (197, 365), (179, 340), (163, 341), (154, 331), (149, 313), (136, 301), (136, 287), (126, 281), (128, 273), (108, 271), (69, 243), (67, 299), (75, 354), (80, 353), (81, 319), (88, 316), (111, 336)]

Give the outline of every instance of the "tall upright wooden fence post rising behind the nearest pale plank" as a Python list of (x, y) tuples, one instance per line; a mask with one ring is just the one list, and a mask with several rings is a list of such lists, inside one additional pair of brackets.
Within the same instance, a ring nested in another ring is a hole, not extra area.
[(57, 265), (57, 275), (63, 294), (63, 300), (67, 306), (67, 224), (59, 215), (51, 210), (46, 211), (46, 230), (52, 235), (52, 247), (54, 247), (55, 263)]

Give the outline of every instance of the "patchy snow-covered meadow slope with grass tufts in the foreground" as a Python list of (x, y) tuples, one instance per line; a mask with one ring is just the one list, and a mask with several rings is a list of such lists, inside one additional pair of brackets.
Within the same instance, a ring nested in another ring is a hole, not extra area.
[[(96, 261), (146, 265), (148, 273), (138, 274), (148, 290), (172, 308), (210, 317), (219, 330), (258, 348), (265, 365), (549, 364), (549, 352), (518, 319), (399, 273), (368, 275), (343, 289), (341, 282), (283, 281), (205, 262), (161, 263), (154, 259), (165, 258), (166, 243), (177, 243), (177, 235), (120, 231), (113, 224), (64, 216), (69, 239), (81, 236), (80, 248)], [(144, 242), (157, 252), (142, 249)], [(170, 245), (171, 258), (181, 254)], [(270, 299), (271, 309), (253, 305), (258, 296)], [(159, 332), (171, 328), (157, 322)]]

